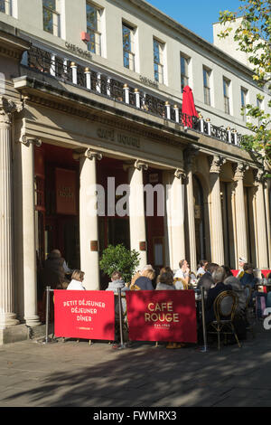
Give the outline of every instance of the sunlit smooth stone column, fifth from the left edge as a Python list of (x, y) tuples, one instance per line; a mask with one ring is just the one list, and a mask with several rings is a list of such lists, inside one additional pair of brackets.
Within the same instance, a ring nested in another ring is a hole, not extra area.
[(180, 260), (185, 259), (184, 193), (182, 178), (185, 174), (177, 169), (167, 174), (166, 183), (166, 225), (168, 235), (169, 265), (179, 269)]

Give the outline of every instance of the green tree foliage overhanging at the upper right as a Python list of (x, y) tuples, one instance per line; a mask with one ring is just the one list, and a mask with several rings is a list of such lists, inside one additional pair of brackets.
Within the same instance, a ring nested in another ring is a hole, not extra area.
[[(234, 40), (238, 49), (248, 54), (248, 61), (253, 65), (253, 79), (266, 93), (271, 94), (271, 2), (270, 0), (240, 0), (238, 12), (228, 10), (220, 12), (220, 23), (229, 25), (221, 31), (219, 37), (225, 38), (232, 31), (230, 23), (241, 17)], [(257, 99), (265, 97), (258, 94)], [(271, 100), (268, 100), (271, 108)], [(259, 105), (259, 103), (258, 103)], [(252, 135), (243, 137), (242, 145), (247, 150), (259, 152), (271, 165), (271, 119), (270, 114), (258, 105), (248, 104), (243, 114), (254, 118), (247, 123)]]

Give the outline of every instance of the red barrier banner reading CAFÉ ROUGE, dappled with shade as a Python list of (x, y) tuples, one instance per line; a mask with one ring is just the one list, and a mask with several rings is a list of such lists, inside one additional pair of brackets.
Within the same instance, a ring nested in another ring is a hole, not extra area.
[(126, 292), (129, 339), (196, 343), (193, 290)]

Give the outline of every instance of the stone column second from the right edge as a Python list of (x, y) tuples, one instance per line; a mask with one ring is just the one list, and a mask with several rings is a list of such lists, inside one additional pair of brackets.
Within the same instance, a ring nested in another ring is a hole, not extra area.
[[(244, 175), (248, 166), (244, 163), (238, 163), (235, 175), (235, 213), (236, 213), (236, 239), (237, 239), (237, 257), (245, 257), (248, 260), (248, 241), (247, 241), (247, 222), (246, 205), (244, 197)], [(248, 230), (249, 231), (249, 230)]]

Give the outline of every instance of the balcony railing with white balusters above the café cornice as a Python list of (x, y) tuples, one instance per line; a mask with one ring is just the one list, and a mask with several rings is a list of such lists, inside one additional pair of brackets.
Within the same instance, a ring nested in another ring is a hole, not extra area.
[(125, 103), (131, 108), (145, 111), (146, 114), (152, 114), (179, 124), (184, 130), (190, 128), (222, 142), (240, 145), (242, 135), (238, 134), (235, 129), (214, 126), (210, 123), (209, 118), (205, 120), (201, 116), (198, 118), (183, 114), (182, 105), (173, 105), (168, 100), (158, 98), (152, 92), (147, 92), (145, 88), (132, 87), (130, 83), (117, 80), (117, 77), (109, 77), (104, 72), (76, 64), (74, 61), (64, 59), (59, 55), (51, 54), (33, 46), (27, 52), (27, 58), (23, 58), (22, 64), (33, 71), (50, 74), (59, 80), (70, 82), (98, 95)]

